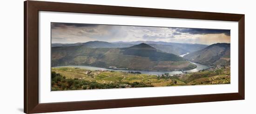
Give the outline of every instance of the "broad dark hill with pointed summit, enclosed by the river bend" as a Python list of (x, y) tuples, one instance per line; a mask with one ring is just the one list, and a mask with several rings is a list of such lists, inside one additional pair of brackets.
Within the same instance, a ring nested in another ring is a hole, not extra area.
[[(52, 66), (88, 65), (103, 68), (114, 66), (128, 70), (149, 71), (188, 70), (196, 67), (182, 57), (159, 51), (145, 43), (133, 44), (133, 46), (125, 48), (113, 48), (113, 44), (117, 43), (98, 41), (73, 46), (53, 46)], [(117, 45), (120, 44), (122, 43)]]

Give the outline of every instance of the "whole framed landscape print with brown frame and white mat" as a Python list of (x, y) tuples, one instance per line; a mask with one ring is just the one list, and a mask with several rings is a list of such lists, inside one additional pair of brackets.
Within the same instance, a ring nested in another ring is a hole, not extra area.
[(24, 2), (24, 112), (244, 99), (244, 15)]

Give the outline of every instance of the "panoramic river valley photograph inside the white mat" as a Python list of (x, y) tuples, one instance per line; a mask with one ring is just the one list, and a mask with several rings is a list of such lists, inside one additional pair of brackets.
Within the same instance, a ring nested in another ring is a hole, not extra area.
[(230, 84), (230, 30), (51, 23), (51, 90)]

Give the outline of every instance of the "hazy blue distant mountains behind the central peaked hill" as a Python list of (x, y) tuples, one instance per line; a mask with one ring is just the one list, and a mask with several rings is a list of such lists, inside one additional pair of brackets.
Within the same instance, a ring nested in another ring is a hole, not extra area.
[(193, 52), (201, 50), (208, 45), (204, 44), (181, 44), (181, 43), (170, 43), (170, 42), (155, 42), (155, 41), (135, 41), (135, 42), (102, 42), (102, 41), (89, 41), (86, 43), (74, 43), (74, 44), (52, 44), (52, 47), (69, 47), (69, 46), (85, 46), (88, 48), (126, 48), (133, 45), (145, 43), (155, 49), (172, 53), (175, 55), (182, 55), (187, 52)]

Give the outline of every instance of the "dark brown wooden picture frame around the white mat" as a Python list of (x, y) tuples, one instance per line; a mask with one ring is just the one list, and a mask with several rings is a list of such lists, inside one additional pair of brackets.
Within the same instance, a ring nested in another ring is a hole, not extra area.
[[(180, 19), (238, 22), (238, 93), (183, 95), (98, 101), (39, 103), (39, 11), (96, 13)], [(244, 100), (244, 14), (209, 13), (123, 6), (102, 6), (60, 2), (24, 2), (24, 113), (44, 113), (101, 108), (123, 108), (209, 101)]]

